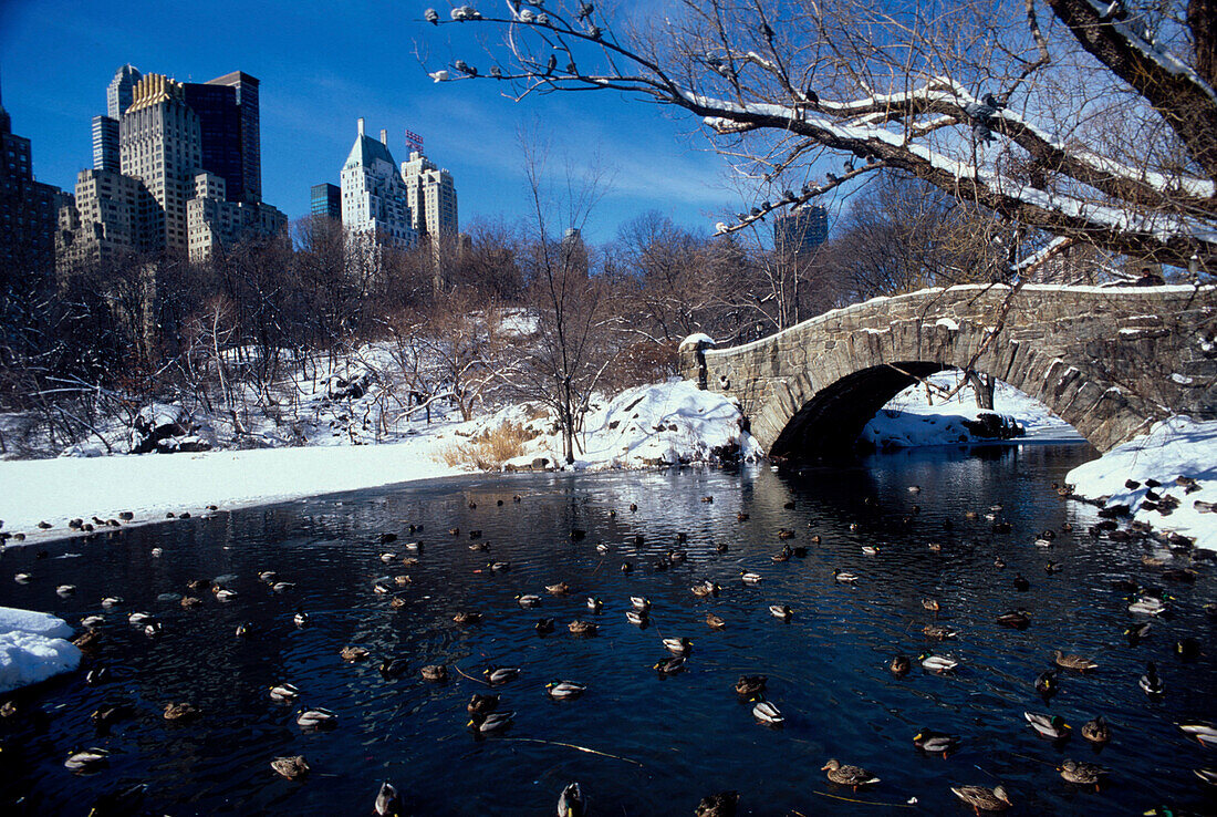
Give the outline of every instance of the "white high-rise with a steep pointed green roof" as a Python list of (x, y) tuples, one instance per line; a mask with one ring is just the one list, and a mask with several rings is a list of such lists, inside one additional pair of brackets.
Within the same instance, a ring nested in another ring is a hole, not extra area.
[(380, 141), (364, 133), (359, 119), (355, 144), (342, 166), (342, 223), (353, 234), (411, 247), (419, 240), (405, 181), (388, 150), (388, 133)]

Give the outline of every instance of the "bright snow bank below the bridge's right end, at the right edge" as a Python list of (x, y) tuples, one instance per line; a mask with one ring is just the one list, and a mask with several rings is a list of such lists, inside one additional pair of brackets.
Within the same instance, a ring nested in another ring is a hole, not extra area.
[[(1185, 486), (1176, 483), (1179, 476), (1195, 480), (1200, 489), (1187, 493)], [(1131, 489), (1125, 486), (1128, 480), (1142, 485)], [(1154, 507), (1156, 503), (1146, 505), (1150, 488), (1145, 480), (1161, 482), (1154, 491), (1177, 498), (1179, 507), (1163, 515)], [(1134, 519), (1195, 537), (1196, 547), (1217, 550), (1217, 514), (1202, 514), (1195, 504), (1217, 502), (1217, 421), (1170, 418), (1155, 424), (1149, 433), (1077, 466), (1065, 481), (1081, 497), (1106, 498), (1107, 505), (1128, 505)]]

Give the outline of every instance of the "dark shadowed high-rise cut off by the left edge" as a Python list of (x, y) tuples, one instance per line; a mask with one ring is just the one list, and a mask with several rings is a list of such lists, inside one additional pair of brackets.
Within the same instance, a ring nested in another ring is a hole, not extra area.
[(58, 188), (34, 181), (29, 140), (12, 133), (0, 103), (0, 279), (54, 262), (60, 195)]

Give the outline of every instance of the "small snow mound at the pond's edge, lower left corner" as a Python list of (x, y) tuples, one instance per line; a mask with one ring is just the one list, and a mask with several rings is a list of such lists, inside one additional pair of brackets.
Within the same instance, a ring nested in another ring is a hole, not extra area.
[(0, 693), (45, 681), (80, 665), (67, 640), (72, 627), (45, 612), (0, 608)]

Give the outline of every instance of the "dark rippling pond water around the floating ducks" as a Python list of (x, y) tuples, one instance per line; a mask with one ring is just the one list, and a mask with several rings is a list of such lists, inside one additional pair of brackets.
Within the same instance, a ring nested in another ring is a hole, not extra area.
[[(83, 667), (110, 666), (118, 681), (88, 687), (83, 671), (54, 679), (18, 699), (41, 717), (0, 722), (0, 804), (6, 815), (84, 815), (99, 795), (145, 780), (145, 808), (155, 815), (365, 815), (387, 778), (411, 813), (542, 815), (554, 813), (561, 788), (577, 779), (599, 815), (689, 815), (702, 795), (723, 789), (741, 791), (741, 811), (755, 815), (966, 815), (949, 785), (1004, 782), (1014, 813), (1140, 813), (1160, 802), (1213, 813), (1217, 799), (1191, 770), (1217, 761), (1172, 726), (1217, 715), (1215, 627), (1201, 609), (1217, 595), (1211, 563), (1200, 565), (1195, 584), (1168, 587), (1171, 617), (1131, 648), (1122, 632), (1134, 616), (1111, 580), (1161, 586), (1161, 569), (1142, 564), (1149, 552), (1140, 544), (1092, 539), (1084, 530), (1093, 510), (1049, 489), (1088, 455), (1082, 446), (1045, 444), (882, 455), (798, 476), (763, 468), (475, 477), (61, 542), (43, 560), (35, 548), (10, 549), (2, 605), (75, 623), (103, 612), (103, 595), (125, 603), (105, 611), (105, 639)], [(910, 493), (910, 485), (921, 492)], [(994, 503), (1004, 505), (1008, 533), (994, 533), (985, 519)], [(978, 517), (966, 519), (970, 510)], [(740, 511), (751, 517), (739, 521)], [(1037, 531), (1066, 521), (1075, 533), (1061, 533), (1050, 549), (1034, 547)], [(411, 522), (424, 525), (422, 533), (410, 537)], [(572, 541), (572, 528), (587, 537)], [(795, 531), (789, 543), (807, 547), (806, 558), (770, 560), (781, 547), (779, 528)], [(469, 549), (470, 530), (482, 531), (488, 553)], [(381, 545), (382, 532), (402, 538)], [(682, 532), (688, 542), (675, 544)], [(635, 536), (644, 537), (641, 547)], [(411, 538), (424, 542), (417, 566), (378, 559), (385, 550), (406, 555)], [(600, 542), (611, 547), (607, 555), (596, 552)], [(942, 552), (931, 553), (931, 542)], [(719, 554), (719, 543), (729, 552)], [(863, 555), (864, 544), (880, 554)], [(155, 547), (163, 548), (161, 558), (151, 555)], [(688, 563), (656, 572), (652, 564), (672, 547), (688, 549)], [(68, 553), (84, 555), (56, 558)], [(1004, 570), (994, 567), (998, 555)], [(511, 567), (492, 572), (490, 559)], [(1049, 559), (1064, 570), (1045, 573)], [(623, 560), (635, 565), (632, 573), (619, 570)], [(834, 567), (857, 572), (857, 587), (835, 584)], [(745, 569), (763, 582), (742, 586)], [(270, 592), (258, 580), (263, 570), (297, 589)], [(15, 583), (19, 571), (35, 580)], [(1017, 572), (1031, 580), (1030, 592), (1014, 591)], [(399, 593), (406, 604), (393, 610), (372, 582), (404, 573), (413, 578)], [(235, 576), (226, 586), (236, 600), (208, 594), (194, 610), (158, 600), (187, 592), (191, 578), (221, 575)], [(718, 598), (694, 598), (689, 588), (703, 578), (722, 584)], [(559, 581), (571, 584), (568, 597), (545, 593)], [(60, 583), (79, 589), (61, 599)], [(539, 593), (542, 605), (521, 609), (518, 593)], [(589, 594), (604, 599), (601, 615), (588, 611)], [(632, 594), (654, 604), (646, 629), (626, 620)], [(937, 620), (959, 629), (957, 640), (925, 639), (921, 627), (933, 615), (922, 598), (941, 600)], [(793, 620), (772, 617), (775, 603), (790, 604)], [(303, 628), (292, 623), (299, 605), (312, 616)], [(993, 622), (1015, 606), (1033, 611), (1025, 632)], [(483, 612), (484, 622), (456, 626), (452, 616), (461, 609)], [(164, 636), (152, 640), (131, 627), (133, 610), (156, 614)], [(711, 631), (708, 611), (727, 628)], [(554, 616), (557, 632), (538, 637), (539, 616)], [(570, 636), (573, 619), (595, 619), (600, 634)], [(245, 621), (259, 634), (237, 638)], [(684, 673), (652, 671), (667, 655), (661, 636), (694, 639)], [(1174, 657), (1184, 636), (1200, 639), (1200, 659)], [(372, 660), (344, 662), (338, 651), (348, 644), (366, 647)], [(960, 668), (944, 677), (888, 671), (897, 653), (915, 656), (926, 647), (959, 659)], [(1045, 705), (1032, 682), (1055, 649), (1101, 666), (1087, 676), (1062, 672), (1060, 694)], [(383, 678), (376, 666), (388, 656), (406, 657), (410, 670)], [(1146, 660), (1166, 681), (1160, 701), (1137, 686)], [(445, 664), (479, 677), (490, 662), (523, 667), (498, 689), (515, 724), (475, 739), (465, 704), (488, 689), (455, 672), (447, 684), (427, 683), (417, 670)], [(752, 705), (734, 693), (735, 679), (753, 673), (769, 677), (783, 728), (756, 723)], [(585, 683), (588, 692), (553, 701), (544, 686), (555, 679)], [(337, 728), (302, 733), (297, 707), (267, 694), (281, 682), (299, 687), (309, 705), (337, 712)], [(190, 701), (203, 715), (167, 722), (161, 714), (169, 701)], [(99, 735), (89, 715), (103, 703), (127, 703), (134, 717)], [(1056, 748), (1038, 739), (1023, 710), (1062, 715), (1075, 727), (1072, 740)], [(1114, 739), (1097, 755), (1077, 731), (1099, 714)], [(963, 746), (946, 760), (920, 754), (912, 738), (922, 726), (961, 735)], [(108, 768), (74, 776), (62, 765), (73, 746), (114, 754)], [(271, 759), (295, 754), (313, 767), (303, 783), (269, 768)], [(834, 787), (820, 771), (829, 757), (863, 765), (882, 782), (857, 794)], [(1065, 783), (1055, 767), (1066, 757), (1107, 766), (1111, 782), (1098, 794)], [(915, 806), (907, 806), (910, 798)]]

